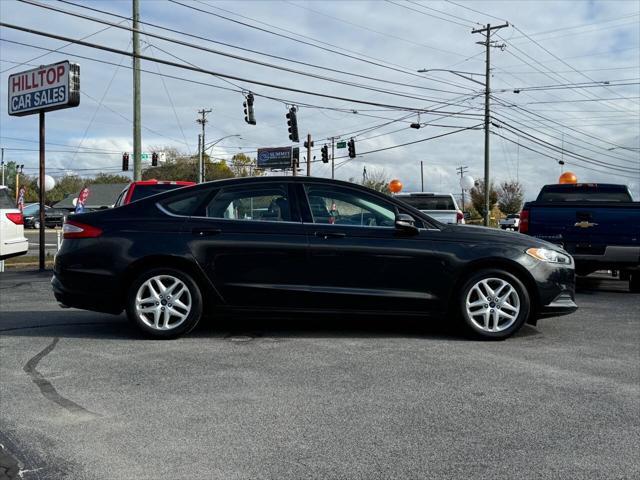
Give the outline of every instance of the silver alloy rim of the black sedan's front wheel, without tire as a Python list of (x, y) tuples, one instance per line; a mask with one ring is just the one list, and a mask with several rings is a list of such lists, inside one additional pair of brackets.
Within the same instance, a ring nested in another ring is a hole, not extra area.
[(484, 278), (473, 285), (465, 299), (471, 323), (484, 332), (502, 332), (511, 327), (520, 314), (520, 296), (502, 278)]

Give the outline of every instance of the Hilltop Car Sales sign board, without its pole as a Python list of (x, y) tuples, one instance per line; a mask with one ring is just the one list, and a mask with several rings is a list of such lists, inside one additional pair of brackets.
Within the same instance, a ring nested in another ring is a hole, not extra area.
[(80, 65), (68, 61), (9, 77), (9, 115), (29, 115), (80, 104)]

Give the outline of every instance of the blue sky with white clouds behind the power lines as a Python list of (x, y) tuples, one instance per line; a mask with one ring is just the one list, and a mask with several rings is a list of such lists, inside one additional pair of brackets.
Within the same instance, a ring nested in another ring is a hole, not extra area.
[[(213, 157), (254, 157), (291, 145), (285, 114), (297, 105), (301, 140), (315, 142), (313, 175), (331, 176), (319, 161), (330, 137), (353, 137), (358, 156), (336, 149), (336, 178), (384, 170), (420, 191), (422, 162), (425, 191), (457, 194), (458, 167), (484, 176), (485, 47), (472, 30), (508, 22), (491, 37), (491, 178), (520, 181), (530, 199), (563, 169), (581, 182), (625, 183), (640, 199), (637, 0), (176, 1), (141, 0), (142, 54), (207, 72), (141, 61), (145, 152), (195, 153), (198, 110), (212, 109), (207, 143), (229, 136)], [(103, 12), (77, 3), (47, 3), (62, 13), (2, 0), (0, 17), (131, 51), (130, 31), (78, 16), (130, 27), (131, 1), (82, 3)], [(8, 27), (0, 39), (3, 99), (11, 74), (80, 65), (80, 106), (46, 115), (47, 173), (119, 173), (133, 150), (131, 58)], [(255, 95), (255, 126), (244, 121), (243, 92)], [(9, 116), (0, 101), (0, 144), (5, 162), (37, 175), (37, 115)]]

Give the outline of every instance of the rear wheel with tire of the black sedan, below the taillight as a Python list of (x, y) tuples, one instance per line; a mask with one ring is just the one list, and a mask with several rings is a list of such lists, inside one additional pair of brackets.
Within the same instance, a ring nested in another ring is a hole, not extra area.
[(137, 277), (126, 295), (126, 311), (145, 335), (172, 339), (193, 330), (202, 317), (196, 281), (174, 268), (154, 268)]

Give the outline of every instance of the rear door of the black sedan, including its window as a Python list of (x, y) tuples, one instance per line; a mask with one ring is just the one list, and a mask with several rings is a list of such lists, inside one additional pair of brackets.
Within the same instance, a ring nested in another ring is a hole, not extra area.
[(227, 304), (304, 305), (307, 237), (286, 182), (223, 187), (201, 215), (185, 225), (190, 249)]

